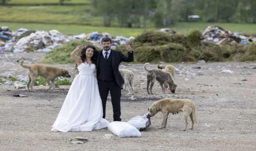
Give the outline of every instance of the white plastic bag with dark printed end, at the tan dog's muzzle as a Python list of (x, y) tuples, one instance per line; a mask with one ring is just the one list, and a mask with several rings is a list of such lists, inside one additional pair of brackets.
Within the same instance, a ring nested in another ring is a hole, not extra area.
[(139, 131), (144, 131), (147, 127), (149, 127), (149, 125), (151, 125), (149, 115), (135, 116), (127, 122), (137, 128)]

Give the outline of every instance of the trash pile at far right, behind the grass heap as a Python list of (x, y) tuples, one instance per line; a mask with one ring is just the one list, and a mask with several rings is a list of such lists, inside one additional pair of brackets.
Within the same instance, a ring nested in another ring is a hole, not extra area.
[(256, 42), (256, 37), (246, 36), (243, 33), (232, 33), (218, 26), (208, 26), (202, 33), (203, 41), (214, 42), (218, 45), (247, 45)]

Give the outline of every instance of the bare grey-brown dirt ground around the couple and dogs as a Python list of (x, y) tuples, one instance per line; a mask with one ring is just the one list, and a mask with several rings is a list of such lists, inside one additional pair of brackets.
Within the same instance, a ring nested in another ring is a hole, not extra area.
[[(12, 56), (11, 56), (12, 54)], [(44, 53), (0, 54), (0, 75), (26, 75), (26, 69), (17, 65), (19, 58), (34, 63)], [(27, 64), (27, 63), (26, 63)], [(201, 69), (191, 68), (198, 65)], [(59, 64), (75, 76), (74, 65)], [(150, 64), (148, 68), (156, 68)], [(46, 92), (47, 86), (35, 87), (37, 92), (15, 89), (13, 85), (0, 85), (0, 151), (254, 151), (256, 150), (256, 63), (226, 62), (205, 64), (175, 64), (179, 69), (174, 94), (163, 95), (159, 85), (153, 87), (155, 95), (146, 91), (146, 72), (143, 64), (124, 64), (136, 74), (135, 98), (122, 92), (121, 118), (146, 114), (155, 101), (170, 98), (191, 99), (196, 105), (198, 124), (194, 130), (182, 131), (185, 122), (182, 113), (170, 115), (165, 129), (159, 130), (162, 113), (151, 118), (151, 125), (141, 132), (140, 138), (111, 138), (108, 129), (92, 132), (51, 132), (69, 86), (60, 86), (57, 92)], [(121, 68), (120, 67), (120, 68)], [(225, 70), (227, 69), (227, 70)], [(230, 71), (229, 71), (230, 70)], [(222, 72), (223, 71), (223, 72)], [(232, 72), (233, 73), (228, 73)], [(197, 73), (199, 75), (189, 75)], [(13, 97), (25, 94), (28, 97)], [(113, 121), (110, 100), (106, 119)], [(189, 120), (188, 127), (191, 127)], [(69, 139), (88, 137), (84, 144), (71, 145)]]

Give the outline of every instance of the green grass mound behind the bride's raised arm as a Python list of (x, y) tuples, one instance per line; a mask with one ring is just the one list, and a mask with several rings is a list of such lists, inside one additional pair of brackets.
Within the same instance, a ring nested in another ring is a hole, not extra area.
[[(72, 40), (67, 42), (59, 47), (54, 48), (49, 53), (46, 54), (45, 58), (42, 60), (41, 63), (75, 63), (75, 60), (71, 57), (71, 52), (78, 46), (78, 45), (93, 45), (88, 41), (85, 40)], [(96, 47), (97, 48), (97, 47)], [(99, 48), (97, 48), (99, 49)], [(77, 53), (80, 56), (80, 52)]]

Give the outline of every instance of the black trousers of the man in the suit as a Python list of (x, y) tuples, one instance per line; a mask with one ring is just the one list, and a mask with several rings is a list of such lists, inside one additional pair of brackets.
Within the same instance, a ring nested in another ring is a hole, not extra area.
[(106, 116), (106, 102), (110, 91), (114, 121), (121, 121), (121, 87), (117, 85), (116, 81), (102, 80), (98, 80), (98, 86), (103, 107), (103, 118)]

